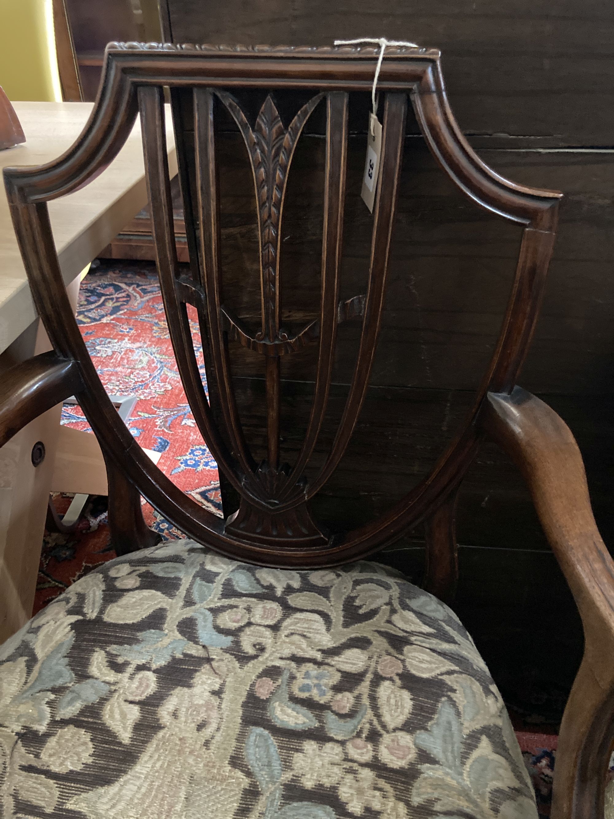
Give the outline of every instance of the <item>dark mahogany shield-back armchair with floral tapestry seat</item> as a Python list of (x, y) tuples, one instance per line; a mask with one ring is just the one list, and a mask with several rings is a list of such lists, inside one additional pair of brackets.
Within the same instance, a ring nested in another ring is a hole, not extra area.
[[(571, 432), (517, 387), (553, 248), (560, 194), (501, 179), (472, 152), (445, 97), (439, 52), (390, 48), (368, 287), (340, 301), (349, 93), (371, 89), (372, 48), (228, 48), (111, 43), (84, 133), (64, 156), (5, 171), (16, 232), (54, 352), (7, 373), (0, 444), (78, 396), (106, 458), (119, 557), (71, 586), (0, 653), (5, 815), (50, 817), (535, 817), (499, 692), (440, 600), (457, 575), (454, 505), (484, 437), (521, 468), (576, 599), (585, 654), (562, 722), (557, 819), (603, 817), (614, 708), (614, 572)], [(165, 149), (170, 88), (190, 267), (178, 266)], [(252, 121), (237, 91), (270, 89)], [(276, 89), (313, 94), (289, 122)], [(386, 291), (404, 124), (411, 103), (431, 152), (468, 197), (521, 225), (499, 341), (466, 423), (432, 470), (375, 523), (330, 534), (309, 500), (335, 470), (367, 389)], [(192, 106), (192, 107), (190, 107)], [(326, 109), (318, 319), (282, 327), (287, 172), (309, 115)], [(193, 144), (178, 127), (193, 113)], [(258, 202), (261, 326), (223, 301), (214, 121), (247, 147)], [(61, 286), (47, 201), (88, 183), (140, 114), (157, 266), (178, 369), (197, 427), (240, 496), (219, 518), (143, 455), (89, 358)], [(205, 348), (208, 393), (188, 305)], [(337, 328), (362, 322), (354, 377), (323, 466), (305, 469), (323, 424)], [(233, 394), (228, 348), (263, 362), (266, 455), (256, 461)], [(280, 360), (311, 346), (313, 404), (294, 464), (280, 448)], [(141, 496), (191, 540), (156, 545)], [(364, 559), (418, 523), (424, 589)], [(439, 598), (439, 600), (437, 600)], [(104, 762), (104, 765), (102, 765)], [(44, 814), (41, 813), (41, 810)]]

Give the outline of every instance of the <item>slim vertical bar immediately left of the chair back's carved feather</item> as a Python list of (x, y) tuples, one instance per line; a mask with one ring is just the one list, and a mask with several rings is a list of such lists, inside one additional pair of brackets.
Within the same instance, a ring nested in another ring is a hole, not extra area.
[(254, 461), (247, 450), (233, 391), (227, 342), (221, 314), (222, 281), (219, 267), (219, 192), (215, 170), (213, 93), (209, 88), (194, 88), (194, 147), (196, 187), (201, 223), (201, 274), (206, 293), (211, 363), (230, 447), (244, 473), (250, 474)]

